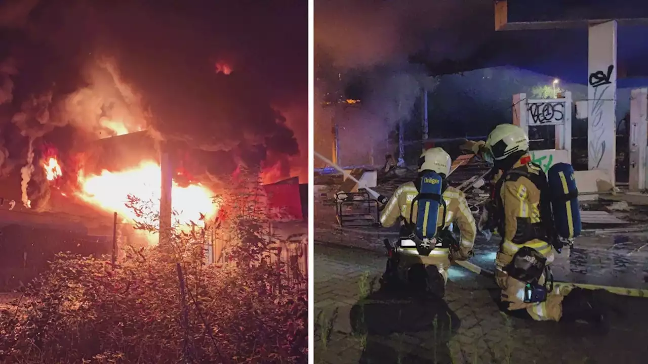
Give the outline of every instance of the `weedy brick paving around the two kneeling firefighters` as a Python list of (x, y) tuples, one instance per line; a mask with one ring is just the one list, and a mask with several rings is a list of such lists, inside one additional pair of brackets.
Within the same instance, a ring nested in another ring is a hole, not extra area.
[[(382, 239), (394, 238), (393, 231), (340, 229), (334, 222), (334, 207), (323, 203), (315, 205), (315, 222), (316, 363), (358, 363), (363, 347), (381, 352), (382, 359), (375, 363), (399, 362), (382, 354), (389, 348), (405, 358), (402, 363), (413, 362), (408, 353), (417, 353), (424, 358), (420, 362), (427, 363), (646, 362), (647, 299), (615, 297), (621, 315), (612, 315), (610, 332), (603, 335), (586, 324), (507, 317), (492, 298), (497, 295), (494, 282), (461, 267), (452, 267), (446, 288), (445, 300), (461, 321), (446, 345), (434, 345), (434, 331), (388, 337), (353, 334), (349, 311), (371, 286), (369, 282), (382, 275), (386, 263)], [(471, 262), (492, 269), (496, 239), (480, 238)], [(558, 255), (555, 279), (647, 290), (646, 246), (645, 234), (579, 238), (575, 249)], [(332, 326), (328, 339), (327, 326)]]

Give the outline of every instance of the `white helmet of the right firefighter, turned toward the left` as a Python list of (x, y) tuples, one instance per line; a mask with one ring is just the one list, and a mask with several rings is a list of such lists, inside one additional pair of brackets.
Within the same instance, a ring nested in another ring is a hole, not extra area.
[(501, 161), (515, 152), (528, 152), (529, 137), (519, 126), (500, 124), (488, 135), (485, 147), (487, 161)]

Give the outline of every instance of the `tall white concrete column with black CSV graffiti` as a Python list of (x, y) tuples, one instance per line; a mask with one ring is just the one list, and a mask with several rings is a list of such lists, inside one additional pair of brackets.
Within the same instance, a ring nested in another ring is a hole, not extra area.
[(588, 169), (605, 170), (614, 185), (616, 163), (616, 20), (590, 26), (588, 52)]

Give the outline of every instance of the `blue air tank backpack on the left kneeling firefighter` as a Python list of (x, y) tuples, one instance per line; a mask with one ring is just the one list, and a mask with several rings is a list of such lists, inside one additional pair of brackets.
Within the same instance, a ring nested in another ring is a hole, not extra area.
[[(430, 252), (441, 246), (441, 241), (437, 239), (440, 231), (445, 229), (446, 220), (446, 203), (443, 199), (443, 177), (436, 172), (428, 172), (421, 177), (421, 187), (419, 194), (411, 201), (410, 223), (406, 222), (408, 229), (411, 231), (410, 238), (415, 242), (419, 255), (430, 255)], [(414, 204), (417, 204), (416, 223), (413, 223)], [(443, 222), (441, 227), (439, 223), (439, 209), (443, 206)]]

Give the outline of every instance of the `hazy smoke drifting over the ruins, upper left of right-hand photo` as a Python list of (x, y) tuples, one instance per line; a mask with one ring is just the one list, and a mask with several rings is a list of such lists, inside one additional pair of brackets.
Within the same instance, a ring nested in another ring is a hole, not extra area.
[[(353, 94), (349, 89), (361, 99), (359, 105), (316, 109), (316, 135), (330, 135), (330, 119), (336, 120), (340, 163), (378, 165), (384, 163), (382, 155), (397, 152), (389, 134), (400, 120), (410, 119), (422, 87), (431, 90), (436, 84), (427, 69), (410, 62), (411, 56), (428, 62), (469, 56), (490, 36), (474, 27), (492, 30), (492, 19), (483, 12), (492, 13), (491, 1), (316, 3), (316, 108), (323, 101), (339, 101), (345, 91), (348, 97)], [(316, 142), (316, 149), (330, 154), (326, 144)], [(367, 158), (370, 154), (373, 159)]]

